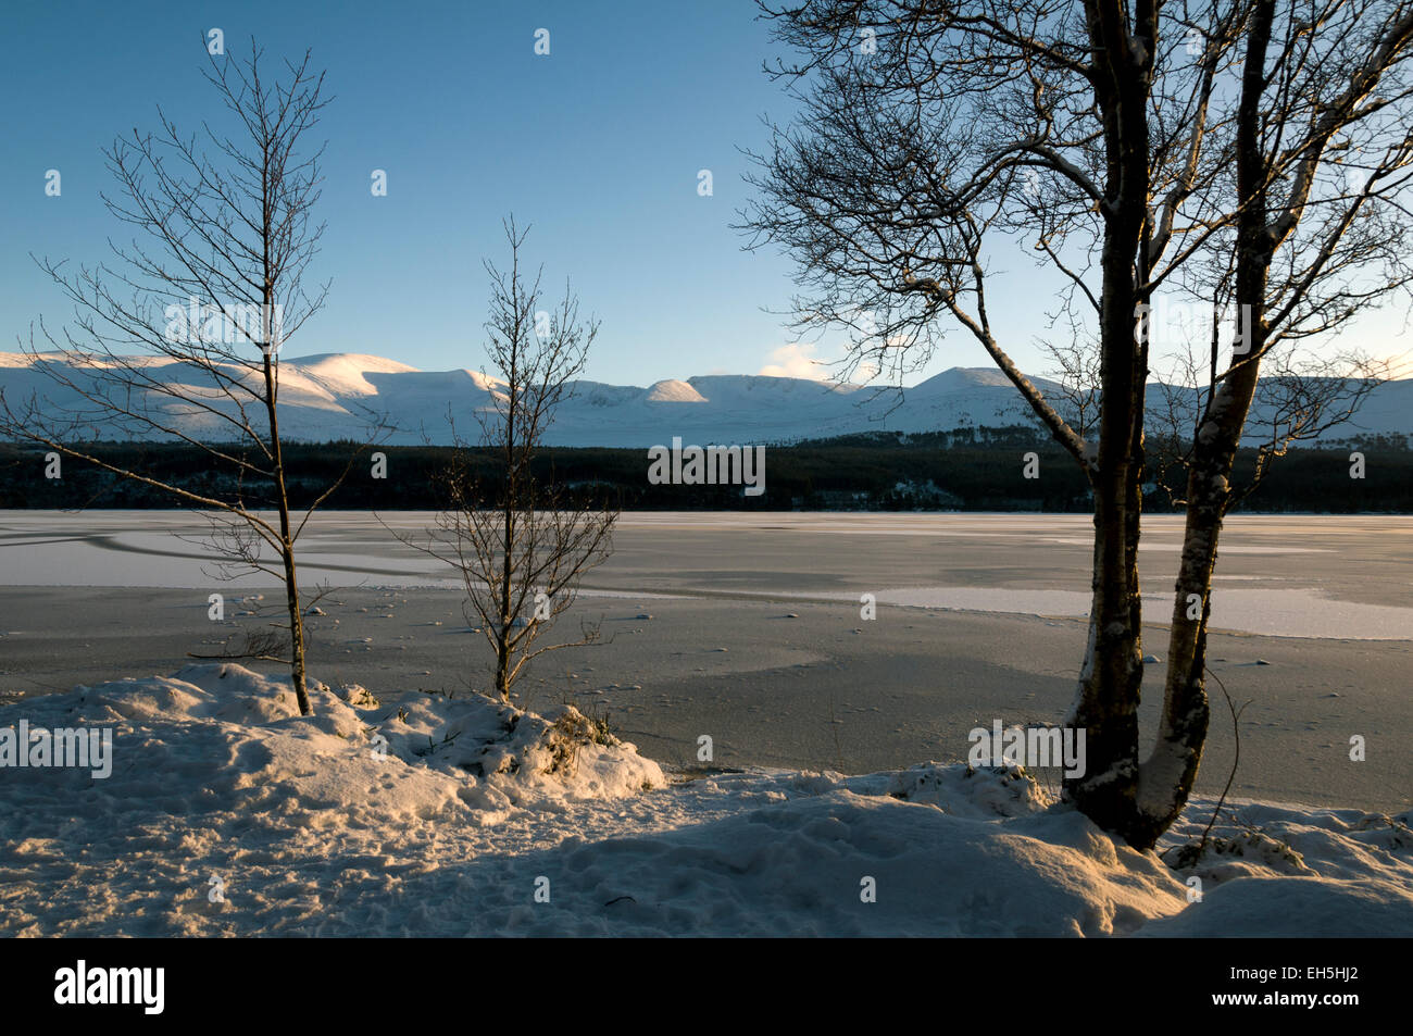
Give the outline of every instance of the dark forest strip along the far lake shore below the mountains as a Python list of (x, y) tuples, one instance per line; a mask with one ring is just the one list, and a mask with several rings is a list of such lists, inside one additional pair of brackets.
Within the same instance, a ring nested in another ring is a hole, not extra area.
[[(545, 447), (533, 461), (544, 488), (534, 506), (550, 505), (550, 488), (586, 503), (609, 498), (623, 510), (924, 510), (924, 512), (1067, 512), (1094, 507), (1088, 482), (1064, 452), (1037, 442), (1034, 432), (993, 432), (983, 444), (958, 441), (954, 432), (848, 435), (808, 444), (767, 447), (766, 492), (745, 496), (740, 486), (649, 485), (643, 449)], [(904, 440), (904, 441), (900, 441)], [(940, 442), (954, 441), (952, 445)], [(312, 505), (346, 465), (352, 442), (285, 444), (285, 490), (290, 506)], [(1034, 452), (1039, 478), (1023, 476), (1024, 455)], [(1364, 478), (1351, 478), (1352, 452), (1365, 458)], [(239, 490), (253, 507), (274, 506), (271, 482), (237, 482), (212, 469), (203, 451), (184, 444), (102, 442), (89, 452), (107, 468), (68, 461), (62, 479), (45, 479), (44, 454), (32, 447), (0, 444), (0, 507), (171, 507), (170, 493), (122, 478), (112, 468), (146, 469), (158, 481), (211, 498), (233, 499)], [(466, 476), (483, 485), (503, 481), (495, 448), (379, 447), (386, 478), (363, 464), (324, 500), (343, 510), (435, 510), (445, 505), (441, 476), (461, 457)], [(1242, 448), (1239, 469), (1259, 462), (1259, 448)], [(1145, 486), (1149, 512), (1181, 513), (1180, 485), (1160, 476)], [(1400, 442), (1371, 441), (1351, 447), (1290, 449), (1238, 510), (1245, 513), (1313, 512), (1332, 514), (1413, 513), (1413, 451)]]

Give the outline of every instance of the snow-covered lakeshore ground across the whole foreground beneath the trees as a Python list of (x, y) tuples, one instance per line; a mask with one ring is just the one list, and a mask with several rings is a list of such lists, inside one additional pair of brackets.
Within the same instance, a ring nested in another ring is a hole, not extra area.
[(1181, 861), (1210, 800), (1139, 854), (1016, 770), (664, 773), (569, 707), (311, 697), (203, 664), (0, 705), (113, 731), (0, 769), (0, 934), (1413, 930), (1407, 813), (1238, 803)]

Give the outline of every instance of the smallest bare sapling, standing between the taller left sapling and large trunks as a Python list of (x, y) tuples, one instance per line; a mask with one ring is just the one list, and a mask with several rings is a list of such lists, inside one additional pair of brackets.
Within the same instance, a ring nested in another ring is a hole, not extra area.
[(492, 283), (486, 352), (495, 380), (492, 403), (478, 413), (495, 475), (473, 475), (458, 437), (458, 452), (441, 479), (448, 503), (428, 540), (398, 538), (458, 571), (466, 619), (490, 644), (496, 691), (509, 700), (516, 678), (537, 656), (599, 640), (599, 626), (585, 622), (575, 640), (537, 644), (574, 605), (585, 572), (612, 553), (617, 509), (608, 499), (571, 493), (552, 468), (544, 478), (537, 473), (544, 434), (555, 408), (572, 397), (599, 325), (579, 319), (579, 301), (568, 286), (558, 304), (541, 308), (543, 270), (527, 278), (520, 264), (528, 230), (517, 230), (514, 219), (504, 228), (510, 269), (486, 263)]

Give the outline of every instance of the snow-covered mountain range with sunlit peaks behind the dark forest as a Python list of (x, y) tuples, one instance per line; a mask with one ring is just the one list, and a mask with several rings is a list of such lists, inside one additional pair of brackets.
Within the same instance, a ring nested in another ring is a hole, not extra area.
[[(189, 365), (155, 358), (147, 360), (147, 372), (168, 384), (211, 392), (209, 380)], [(81, 369), (62, 373), (79, 384), (89, 377)], [(1033, 380), (1063, 410), (1058, 386)], [(280, 363), (280, 425), (291, 440), (357, 440), (369, 434), (370, 414), (379, 414), (396, 428), (386, 442), (447, 444), (452, 441), (452, 423), (473, 441), (479, 432), (475, 411), (490, 404), (500, 384), (473, 370), (427, 372), (359, 353), (291, 358)], [(55, 413), (79, 400), (18, 353), (0, 353), (0, 392), (13, 407), (37, 394), (41, 406)], [(1150, 399), (1156, 394), (1150, 389)], [(202, 408), (151, 392), (146, 404), (161, 410), (185, 434), (232, 438), (229, 423)], [(229, 403), (222, 406), (216, 399), (212, 406), (230, 410)], [(560, 407), (545, 441), (646, 448), (681, 437), (684, 444), (698, 445), (763, 444), (861, 431), (952, 431), (1033, 423), (1015, 387), (992, 367), (952, 367), (904, 390), (801, 377), (708, 375), (647, 387), (579, 382), (572, 399)], [(89, 425), (89, 431), (100, 438), (129, 438), (113, 423)], [(1331, 430), (1327, 438), (1410, 432), (1413, 380), (1400, 380), (1375, 389), (1355, 421)]]

